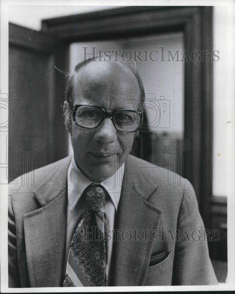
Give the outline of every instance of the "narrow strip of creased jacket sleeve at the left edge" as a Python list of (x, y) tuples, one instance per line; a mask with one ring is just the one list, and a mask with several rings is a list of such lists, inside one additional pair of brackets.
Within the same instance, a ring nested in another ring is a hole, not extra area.
[(16, 224), (10, 195), (8, 196), (8, 287), (21, 288), (17, 256)]

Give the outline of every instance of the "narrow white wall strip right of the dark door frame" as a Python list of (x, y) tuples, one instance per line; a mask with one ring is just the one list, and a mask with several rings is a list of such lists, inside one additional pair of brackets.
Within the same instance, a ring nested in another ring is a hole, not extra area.
[(214, 133), (213, 133), (213, 195), (227, 196), (227, 7), (214, 6)]

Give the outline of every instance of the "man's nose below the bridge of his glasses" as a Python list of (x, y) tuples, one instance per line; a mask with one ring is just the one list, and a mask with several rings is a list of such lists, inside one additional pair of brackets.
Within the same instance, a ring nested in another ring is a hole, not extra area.
[(116, 129), (110, 118), (105, 118), (96, 129), (94, 139), (105, 143), (107, 140), (116, 140)]

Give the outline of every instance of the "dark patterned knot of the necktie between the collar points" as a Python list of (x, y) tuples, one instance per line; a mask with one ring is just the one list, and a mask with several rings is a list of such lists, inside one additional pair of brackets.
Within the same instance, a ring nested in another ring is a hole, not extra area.
[(90, 210), (105, 211), (105, 191), (102, 186), (90, 184), (83, 194)]

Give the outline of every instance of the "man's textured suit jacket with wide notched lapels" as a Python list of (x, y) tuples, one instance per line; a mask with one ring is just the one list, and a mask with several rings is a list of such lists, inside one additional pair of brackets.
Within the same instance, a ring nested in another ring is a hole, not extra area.
[[(9, 287), (62, 286), (70, 160), (35, 170), (34, 185), (20, 178), (9, 185)], [(207, 242), (172, 238), (204, 225), (189, 181), (178, 176), (181, 184), (168, 187), (168, 176), (128, 156), (115, 220), (125, 234), (113, 243), (112, 286), (217, 284)]]

